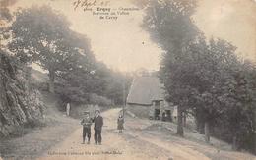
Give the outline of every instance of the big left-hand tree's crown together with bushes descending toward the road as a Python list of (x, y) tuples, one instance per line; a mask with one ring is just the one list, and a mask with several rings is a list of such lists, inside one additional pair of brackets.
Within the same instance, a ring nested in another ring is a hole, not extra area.
[(124, 77), (97, 62), (89, 40), (69, 27), (66, 18), (48, 6), (20, 10), (9, 27), (8, 48), (25, 64), (37, 63), (48, 71), (49, 91), (64, 102), (89, 103), (95, 93), (121, 103)]

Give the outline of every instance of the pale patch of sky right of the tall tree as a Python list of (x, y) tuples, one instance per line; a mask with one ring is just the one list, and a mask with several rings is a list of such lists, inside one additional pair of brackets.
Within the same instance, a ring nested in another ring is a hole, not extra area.
[(200, 0), (197, 26), (208, 37), (220, 37), (237, 47), (237, 54), (256, 62), (256, 3), (254, 0)]

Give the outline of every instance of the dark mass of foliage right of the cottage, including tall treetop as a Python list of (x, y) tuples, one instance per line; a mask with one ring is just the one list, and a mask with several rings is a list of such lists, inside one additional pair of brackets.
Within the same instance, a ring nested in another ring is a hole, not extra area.
[(218, 136), (235, 147), (252, 150), (255, 65), (239, 60), (236, 47), (225, 40), (207, 41), (191, 19), (194, 6), (192, 1), (171, 0), (151, 2), (147, 8), (143, 27), (165, 51), (159, 74), (166, 98), (182, 112), (192, 111), (198, 121), (214, 126), (212, 134), (222, 133)]

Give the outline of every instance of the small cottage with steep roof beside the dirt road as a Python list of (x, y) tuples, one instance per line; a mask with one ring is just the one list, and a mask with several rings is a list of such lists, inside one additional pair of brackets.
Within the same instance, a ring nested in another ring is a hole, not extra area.
[(162, 119), (173, 118), (174, 107), (164, 100), (163, 85), (159, 78), (141, 76), (133, 80), (126, 101), (127, 109), (138, 117)]

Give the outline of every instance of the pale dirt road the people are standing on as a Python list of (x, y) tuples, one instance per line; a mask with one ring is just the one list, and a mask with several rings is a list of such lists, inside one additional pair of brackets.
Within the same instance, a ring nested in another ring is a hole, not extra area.
[[(81, 144), (82, 129), (78, 124), (78, 129), (74, 133), (39, 159), (256, 159), (250, 154), (220, 150), (211, 145), (164, 133), (162, 130), (151, 129), (152, 122), (147, 120), (126, 118), (126, 130), (119, 134), (116, 131), (118, 112), (119, 109), (112, 109), (102, 114), (102, 145), (95, 145), (93, 138), (90, 145)], [(92, 133), (94, 134), (93, 130)]]

